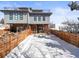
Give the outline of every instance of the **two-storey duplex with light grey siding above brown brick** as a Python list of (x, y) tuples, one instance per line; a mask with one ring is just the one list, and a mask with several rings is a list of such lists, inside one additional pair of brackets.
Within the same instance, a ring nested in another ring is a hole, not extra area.
[(27, 7), (5, 8), (4, 23), (10, 25), (11, 31), (24, 30), (28, 26), (34, 32), (44, 32), (48, 29), (50, 11), (32, 9)]

